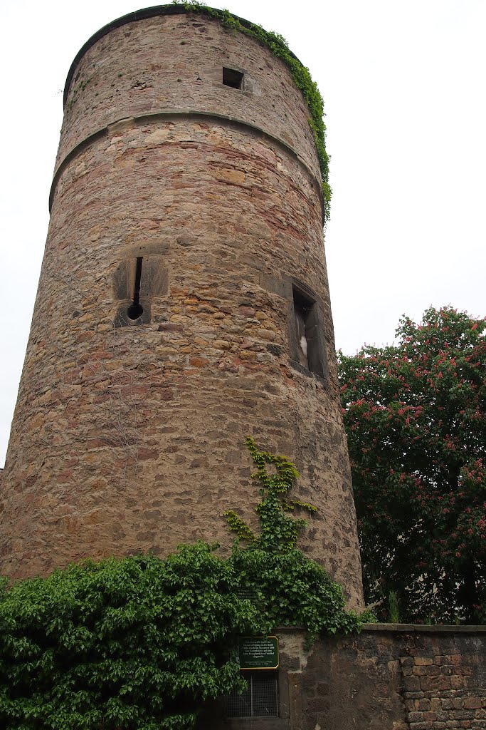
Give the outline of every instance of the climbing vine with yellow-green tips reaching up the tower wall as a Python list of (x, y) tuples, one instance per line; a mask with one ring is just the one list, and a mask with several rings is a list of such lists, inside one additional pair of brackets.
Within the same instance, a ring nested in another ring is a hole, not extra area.
[[(372, 621), (374, 617), (371, 614), (358, 617), (346, 611), (340, 585), (296, 547), (299, 532), (307, 523), (286, 512), (295, 507), (310, 513), (317, 510), (313, 504), (286, 498), (299, 476), (294, 464), (286, 456), (259, 451), (250, 437), (246, 445), (256, 465), (252, 476), (260, 484), (262, 499), (255, 507), (260, 534), (255, 536), (235, 512), (224, 513), (230, 529), (249, 541), (246, 549), (240, 548), (237, 542), (230, 558), (240, 575), (242, 588), (256, 596), (270, 628), (305, 627), (307, 646), (320, 635), (360, 629), (364, 621)], [(273, 468), (273, 473), (268, 473), (267, 465)], [(251, 537), (246, 537), (245, 531)]]

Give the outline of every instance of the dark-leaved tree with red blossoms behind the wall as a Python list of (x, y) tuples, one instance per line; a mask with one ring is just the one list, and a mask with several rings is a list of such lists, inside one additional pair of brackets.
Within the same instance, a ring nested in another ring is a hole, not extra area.
[(398, 345), (339, 353), (367, 602), (401, 621), (486, 621), (486, 322), (400, 320)]

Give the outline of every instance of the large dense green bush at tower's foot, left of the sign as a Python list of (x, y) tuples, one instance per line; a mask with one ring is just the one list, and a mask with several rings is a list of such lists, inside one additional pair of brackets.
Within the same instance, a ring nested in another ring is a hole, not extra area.
[(230, 648), (262, 622), (202, 542), (161, 561), (85, 561), (0, 601), (0, 726), (189, 729), (240, 685)]

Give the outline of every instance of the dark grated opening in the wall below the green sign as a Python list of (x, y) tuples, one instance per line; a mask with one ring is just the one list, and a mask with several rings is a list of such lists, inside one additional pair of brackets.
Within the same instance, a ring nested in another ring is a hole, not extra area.
[(245, 672), (248, 687), (243, 694), (232, 692), (225, 697), (227, 718), (277, 718), (278, 673)]

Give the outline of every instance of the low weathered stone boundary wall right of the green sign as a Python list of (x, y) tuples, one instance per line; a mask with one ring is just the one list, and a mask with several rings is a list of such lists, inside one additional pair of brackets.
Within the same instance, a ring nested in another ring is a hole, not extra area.
[(208, 729), (486, 729), (486, 626), (367, 624), (309, 653), (303, 632), (278, 635), (281, 717)]

